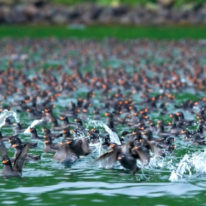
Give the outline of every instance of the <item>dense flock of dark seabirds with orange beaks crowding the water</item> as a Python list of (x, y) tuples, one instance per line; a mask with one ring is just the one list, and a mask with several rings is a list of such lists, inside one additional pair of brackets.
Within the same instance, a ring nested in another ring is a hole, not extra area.
[[(42, 152), (71, 167), (99, 145), (96, 164), (119, 162), (133, 175), (151, 157), (173, 155), (177, 138), (206, 145), (206, 98), (201, 96), (206, 67), (194, 49), (204, 49), (205, 42), (24, 39), (0, 44), (1, 58), (7, 57), (7, 69), (0, 71), (0, 111), (21, 116), (20, 121), (5, 116), (1, 124), (3, 176), (21, 176), (24, 164), (41, 161), (41, 155), (30, 153), (41, 141)], [(43, 68), (58, 58), (62, 65)], [(111, 58), (119, 62), (114, 65)], [(184, 92), (194, 96), (178, 101)], [(35, 120), (39, 124), (31, 126)], [(89, 120), (105, 121), (110, 132), (88, 125)]]

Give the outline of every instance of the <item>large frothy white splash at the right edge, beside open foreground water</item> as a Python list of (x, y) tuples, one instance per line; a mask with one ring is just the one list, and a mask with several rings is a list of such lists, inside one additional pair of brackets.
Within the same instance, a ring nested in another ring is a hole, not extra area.
[(204, 152), (195, 152), (191, 155), (186, 154), (177, 165), (177, 168), (171, 172), (170, 181), (178, 181), (184, 177), (190, 177), (193, 173), (206, 173), (206, 150)]

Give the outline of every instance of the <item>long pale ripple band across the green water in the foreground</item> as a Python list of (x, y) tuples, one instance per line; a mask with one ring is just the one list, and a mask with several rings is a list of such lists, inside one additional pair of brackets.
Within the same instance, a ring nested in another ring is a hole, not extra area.
[(99, 193), (105, 196), (115, 196), (118, 194), (131, 197), (161, 197), (165, 195), (172, 196), (194, 196), (200, 191), (205, 190), (190, 183), (105, 183), (105, 182), (60, 182), (55, 185), (44, 187), (17, 187), (6, 189), (7, 193), (24, 193), (24, 194), (43, 194), (59, 191), (68, 195), (88, 195)]

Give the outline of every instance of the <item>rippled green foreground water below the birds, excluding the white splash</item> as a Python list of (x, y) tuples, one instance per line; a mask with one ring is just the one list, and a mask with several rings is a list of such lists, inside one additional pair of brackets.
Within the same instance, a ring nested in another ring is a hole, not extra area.
[(164, 169), (133, 177), (97, 168), (87, 158), (65, 168), (46, 156), (27, 164), (21, 179), (1, 178), (1, 205), (205, 205), (204, 175), (172, 183)]

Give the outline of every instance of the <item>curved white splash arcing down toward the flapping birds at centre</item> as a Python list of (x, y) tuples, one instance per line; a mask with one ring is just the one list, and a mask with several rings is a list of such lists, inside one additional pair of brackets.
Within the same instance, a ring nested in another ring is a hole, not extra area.
[(92, 125), (93, 127), (103, 127), (105, 129), (105, 131), (109, 134), (109, 137), (111, 139), (112, 142), (120, 145), (121, 142), (119, 140), (119, 137), (117, 136), (117, 134), (115, 132), (113, 132), (105, 123), (103, 123), (102, 121), (98, 121), (98, 120), (90, 120), (88, 121), (88, 125)]

